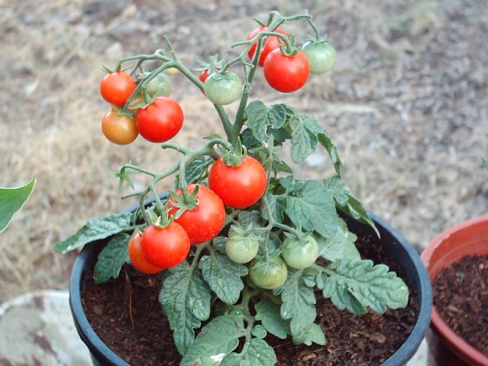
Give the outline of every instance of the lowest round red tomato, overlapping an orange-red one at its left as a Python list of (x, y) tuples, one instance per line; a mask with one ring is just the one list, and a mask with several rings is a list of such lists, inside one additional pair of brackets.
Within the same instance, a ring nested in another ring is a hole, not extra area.
[(141, 247), (150, 264), (160, 268), (178, 266), (190, 252), (190, 238), (177, 222), (160, 228), (149, 225), (142, 233)]

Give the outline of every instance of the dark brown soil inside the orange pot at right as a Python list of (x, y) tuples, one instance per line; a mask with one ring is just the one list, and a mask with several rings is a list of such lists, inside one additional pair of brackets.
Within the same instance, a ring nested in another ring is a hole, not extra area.
[(488, 356), (488, 255), (466, 256), (444, 268), (432, 291), (443, 321)]

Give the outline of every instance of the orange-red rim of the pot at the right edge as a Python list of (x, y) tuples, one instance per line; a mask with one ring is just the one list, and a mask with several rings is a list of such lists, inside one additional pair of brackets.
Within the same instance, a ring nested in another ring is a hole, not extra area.
[[(436, 250), (439, 250), (439, 247), (443, 245), (447, 245), (446, 242), (452, 238), (453, 234), (460, 233), (466, 230), (473, 230), (473, 227), (477, 227), (478, 225), (482, 225), (488, 228), (488, 214), (481, 215), (476, 218), (471, 218), (469, 220), (465, 220), (463, 222), (459, 222), (454, 226), (445, 229), (441, 232), (438, 236), (434, 238), (433, 241), (427, 245), (425, 250), (420, 255), (420, 258), (424, 262), (427, 273), (429, 273), (429, 277), (431, 280), (434, 280), (436, 275), (443, 269), (448, 267), (450, 264), (454, 263), (455, 261), (461, 259), (465, 255), (468, 254), (488, 254), (488, 245), (485, 245), (485, 249), (481, 250), (480, 247), (473, 247), (469, 245), (470, 242), (468, 241), (466, 245), (458, 246), (456, 249), (459, 250), (457, 256), (455, 256), (454, 249), (448, 250), (445, 252), (443, 257), (438, 258), (439, 260), (435, 260), (434, 253)], [(486, 235), (487, 243), (488, 243), (488, 230)], [(470, 252), (471, 247), (471, 252)], [(449, 259), (445, 257), (450, 256)], [(441, 261), (444, 259), (444, 262)], [(459, 358), (462, 358), (470, 365), (476, 366), (488, 366), (488, 356), (485, 353), (482, 353), (475, 347), (471, 346), (464, 338), (457, 335), (450, 326), (448, 326), (445, 321), (441, 318), (439, 312), (436, 310), (436, 307), (432, 305), (432, 317), (431, 317), (431, 328), (433, 328), (434, 332), (441, 337), (441, 340), (445, 344), (450, 346), (450, 349), (456, 353)]]

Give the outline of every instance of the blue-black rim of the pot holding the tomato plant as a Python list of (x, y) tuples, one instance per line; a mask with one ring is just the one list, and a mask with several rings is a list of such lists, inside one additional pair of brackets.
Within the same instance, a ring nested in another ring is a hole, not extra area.
[[(126, 211), (131, 211), (136, 207), (138, 207), (138, 205), (130, 207)], [(415, 282), (418, 284), (419, 302), (418, 318), (415, 321), (415, 325), (413, 326), (413, 329), (409, 337), (407, 337), (405, 340), (404, 344), (402, 344), (402, 346), (400, 346), (399, 349), (397, 349), (397, 351), (390, 356), (390, 358), (381, 364), (381, 366), (405, 365), (409, 360), (411, 360), (415, 352), (418, 350), (430, 322), (432, 309), (431, 282), (429, 281), (429, 275), (427, 274), (424, 264), (420, 260), (417, 250), (415, 250), (415, 248), (408, 241), (406, 241), (406, 238), (404, 238), (399, 231), (392, 228), (388, 222), (384, 221), (373, 213), (369, 213), (369, 215), (376, 224), (376, 227), (379, 229), (382, 236), (383, 234), (388, 233), (392, 236), (394, 241), (397, 241), (400, 247), (402, 247), (403, 251), (408, 255), (416, 271), (415, 275), (417, 278), (415, 279)], [(89, 253), (91, 250), (93, 250), (93, 248), (94, 246), (91, 244), (85, 245), (82, 251), (78, 254), (72, 270), (70, 279), (70, 308), (73, 318), (75, 319), (75, 325), (83, 342), (89, 347), (90, 352), (98, 360), (103, 360), (105, 363), (108, 362), (112, 365), (130, 366), (129, 363), (126, 363), (125, 360), (114, 353), (114, 351), (109, 349), (109, 347), (102, 342), (102, 340), (100, 340), (100, 337), (98, 337), (95, 330), (93, 330), (91, 327), (82, 308), (81, 293), (78, 291), (78, 289), (82, 283), (82, 268), (84, 267), (84, 262), (86, 261), (86, 258), (89, 257)]]

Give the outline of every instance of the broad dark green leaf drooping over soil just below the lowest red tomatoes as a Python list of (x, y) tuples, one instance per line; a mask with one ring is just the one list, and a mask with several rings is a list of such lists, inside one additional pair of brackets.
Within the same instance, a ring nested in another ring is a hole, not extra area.
[(159, 302), (173, 332), (176, 349), (185, 355), (195, 339), (195, 328), (210, 317), (211, 292), (198, 270), (187, 261), (170, 268)]

